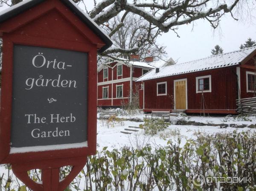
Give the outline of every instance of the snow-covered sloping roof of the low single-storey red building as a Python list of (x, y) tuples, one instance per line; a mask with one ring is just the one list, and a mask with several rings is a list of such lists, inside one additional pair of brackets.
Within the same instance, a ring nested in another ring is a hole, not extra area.
[(166, 76), (238, 65), (241, 64), (241, 62), (244, 61), (244, 59), (254, 51), (256, 51), (256, 46), (220, 55), (213, 55), (195, 61), (161, 67), (158, 73), (156, 73), (155, 70), (151, 70), (150, 72), (138, 78), (136, 81), (145, 81), (154, 78), (162, 78)]

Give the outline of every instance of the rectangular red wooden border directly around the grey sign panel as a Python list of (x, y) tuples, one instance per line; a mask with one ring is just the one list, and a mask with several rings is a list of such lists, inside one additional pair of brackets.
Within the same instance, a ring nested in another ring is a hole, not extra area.
[[(28, 43), (29, 42), (29, 43)], [(41, 152), (29, 153), (10, 153), (11, 142), (11, 121), (12, 121), (12, 75), (13, 75), (13, 45), (27, 45), (56, 48), (56, 49), (69, 49), (80, 52), (88, 52), (88, 74), (93, 74), (96, 71), (96, 46), (88, 44), (76, 44), (66, 42), (52, 41), (52, 39), (45, 39), (44, 42), (38, 41), (38, 38), (32, 39), (31, 37), (20, 38), (17, 35), (4, 35), (3, 36), (3, 70), (2, 70), (2, 89), (1, 89), (1, 110), (0, 110), (0, 161), (1, 163), (16, 163), (16, 162), (32, 162), (38, 160), (50, 159), (63, 159), (70, 158), (70, 156), (88, 156), (96, 152), (96, 74), (90, 75), (88, 78), (88, 109), (87, 112), (87, 143), (88, 147), (72, 148), (63, 150), (48, 150)], [(95, 120), (93, 120), (95, 119)]]

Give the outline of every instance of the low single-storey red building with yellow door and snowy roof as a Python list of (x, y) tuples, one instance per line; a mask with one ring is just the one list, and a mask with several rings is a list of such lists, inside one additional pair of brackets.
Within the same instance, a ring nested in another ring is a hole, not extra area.
[[(186, 113), (236, 113), (236, 99), (255, 96), (256, 46), (154, 69), (138, 78), (140, 107)], [(204, 109), (204, 110), (203, 110)]]

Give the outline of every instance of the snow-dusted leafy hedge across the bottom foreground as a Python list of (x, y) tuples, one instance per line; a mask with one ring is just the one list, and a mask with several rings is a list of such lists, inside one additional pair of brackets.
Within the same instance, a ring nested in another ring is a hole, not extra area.
[[(168, 146), (155, 149), (148, 145), (140, 150), (121, 148), (109, 151), (105, 147), (95, 156), (88, 157), (84, 169), (66, 191), (252, 191), (256, 189), (255, 137), (255, 132), (234, 131), (199, 135), (195, 140), (187, 140), (183, 147), (180, 140), (177, 143), (169, 141)], [(69, 170), (63, 168), (61, 173), (68, 174)], [(198, 173), (205, 177), (250, 177), (251, 182), (226, 184), (217, 181), (199, 188), (192, 181)], [(41, 176), (35, 172), (30, 176), (41, 181)], [(7, 181), (10, 183), (6, 184)], [(8, 179), (5, 174), (2, 190), (18, 189), (15, 181), (15, 177)]]

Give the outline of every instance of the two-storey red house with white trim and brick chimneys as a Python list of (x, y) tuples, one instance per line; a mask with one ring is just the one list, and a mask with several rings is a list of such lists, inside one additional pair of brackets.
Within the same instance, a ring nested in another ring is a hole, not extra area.
[(171, 58), (168, 61), (154, 62), (152, 58), (145, 58), (145, 62), (140, 62), (139, 55), (133, 55), (131, 58), (133, 60), (120, 59), (98, 67), (98, 106), (119, 107), (127, 104), (131, 95), (141, 88), (140, 83), (135, 82), (137, 78), (155, 67), (174, 62)]

